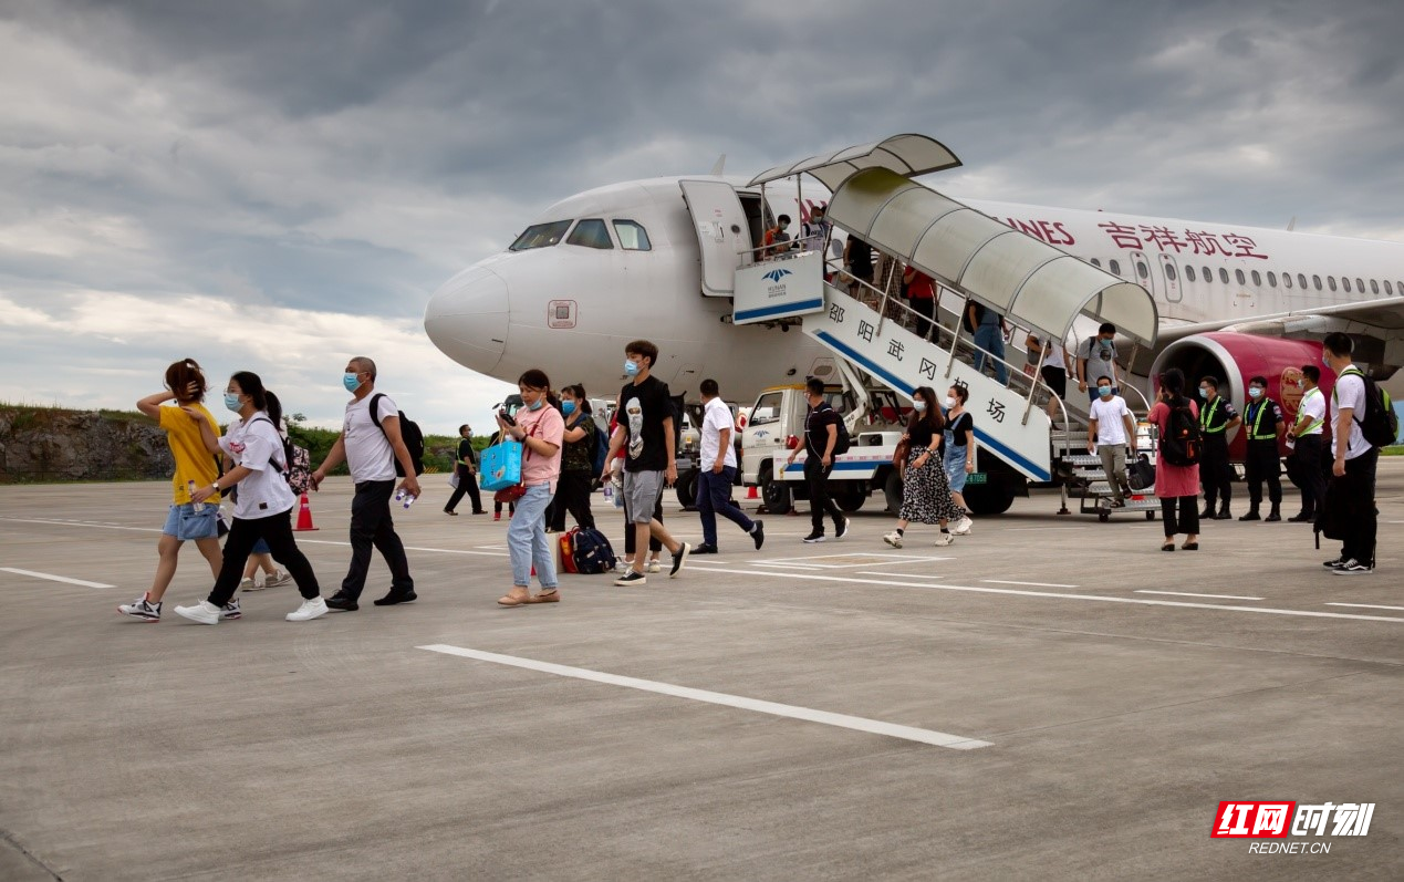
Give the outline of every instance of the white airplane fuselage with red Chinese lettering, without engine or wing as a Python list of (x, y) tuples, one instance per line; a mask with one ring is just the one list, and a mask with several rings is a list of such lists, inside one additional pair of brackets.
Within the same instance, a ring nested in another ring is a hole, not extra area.
[[(730, 299), (702, 294), (698, 225), (678, 181), (706, 178), (630, 181), (557, 202), (532, 228), (602, 219), (611, 247), (571, 244), (574, 228), (569, 228), (555, 244), (473, 264), (431, 298), (424, 320), (430, 338), (453, 361), (489, 376), (515, 382), (522, 371), (541, 368), (556, 385), (580, 382), (605, 395), (625, 382), (625, 344), (636, 338), (660, 348), (654, 374), (674, 393), (695, 396), (698, 383), (713, 378), (727, 399), (744, 402), (765, 386), (821, 372), (820, 365), (833, 364), (831, 353), (797, 327), (731, 324)], [(727, 180), (748, 194), (751, 205), (760, 204), (760, 190), (741, 180)], [(799, 197), (793, 183), (765, 191), (767, 212), (789, 213), (796, 237)], [(806, 204), (827, 198), (819, 184), (804, 184)], [(1155, 299), (1163, 329), (1251, 323), (1272, 313), (1404, 298), (1401, 243), (965, 202), (1143, 285)], [(616, 220), (642, 226), (649, 250), (623, 247)], [(1258, 333), (1275, 336), (1271, 329)]]

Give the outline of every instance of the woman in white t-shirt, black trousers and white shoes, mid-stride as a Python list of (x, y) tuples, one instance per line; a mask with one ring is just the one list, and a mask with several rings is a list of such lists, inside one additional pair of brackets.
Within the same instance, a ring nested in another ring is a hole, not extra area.
[[(215, 438), (208, 423), (201, 423), (205, 447), (213, 454), (225, 454), (234, 468), (213, 485), (199, 487), (191, 494), (202, 503), (218, 492), (237, 485), (234, 501), (234, 522), (225, 539), (225, 563), (215, 580), (209, 597), (194, 607), (176, 607), (176, 612), (202, 625), (218, 625), (219, 611), (239, 588), (244, 563), (258, 539), (268, 542), (272, 556), (288, 567), (302, 605), (285, 618), (289, 622), (305, 622), (327, 612), (327, 603), (317, 587), (317, 574), (312, 572), (307, 558), (298, 551), (292, 538), (292, 507), (296, 497), (284, 478), (288, 458), (278, 437), (277, 424), (282, 419), (277, 399), (268, 400), (263, 381), (257, 374), (240, 371), (229, 378), (225, 388), (225, 407), (239, 414), (229, 426), (223, 438)], [(191, 419), (198, 419), (197, 413)]]

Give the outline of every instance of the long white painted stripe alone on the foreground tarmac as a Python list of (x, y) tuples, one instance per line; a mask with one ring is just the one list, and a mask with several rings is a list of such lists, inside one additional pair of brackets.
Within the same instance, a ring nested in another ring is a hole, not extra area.
[(543, 674), (556, 674), (557, 677), (590, 680), (592, 683), (619, 685), (629, 690), (657, 692), (658, 695), (671, 695), (674, 698), (688, 698), (691, 701), (702, 701), (706, 704), (723, 705), (727, 708), (740, 708), (741, 711), (755, 711), (757, 713), (769, 713), (772, 716), (786, 716), (789, 719), (802, 719), (812, 723), (824, 723), (826, 726), (838, 726), (840, 729), (854, 729), (855, 732), (885, 735), (887, 737), (904, 739), (908, 742), (920, 742), (922, 744), (934, 744), (936, 747), (949, 747), (952, 750), (974, 750), (977, 747), (993, 746), (991, 742), (981, 742), (977, 739), (970, 739), (960, 735), (951, 735), (946, 732), (917, 729), (914, 726), (901, 726), (899, 723), (887, 723), (879, 719), (849, 716), (847, 713), (833, 713), (830, 711), (816, 711), (813, 708), (800, 708), (796, 705), (782, 705), (774, 701), (761, 701), (758, 698), (746, 698), (743, 695), (727, 695), (726, 692), (694, 690), (691, 687), (674, 685), (671, 683), (639, 680), (636, 677), (621, 677), (619, 674), (605, 674), (602, 671), (592, 671), (584, 667), (567, 667), (564, 664), (552, 664), (550, 662), (536, 662), (535, 659), (521, 659), (518, 656), (500, 656), (497, 653), (482, 652), (477, 649), (463, 649), (462, 646), (446, 646), (444, 643), (434, 643), (430, 646), (417, 646), (416, 649), (438, 652), (446, 656), (459, 656), (462, 659), (491, 662), (493, 664), (522, 667), (532, 671), (541, 671)]

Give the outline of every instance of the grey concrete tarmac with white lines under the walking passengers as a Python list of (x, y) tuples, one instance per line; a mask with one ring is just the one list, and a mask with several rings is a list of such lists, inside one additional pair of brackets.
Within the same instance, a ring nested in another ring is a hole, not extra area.
[[(218, 626), (174, 614), (212, 581), (194, 548), (163, 621), (117, 612), (168, 485), (0, 487), (0, 879), (1404, 875), (1404, 459), (1367, 576), (1306, 525), (1164, 553), (1160, 522), (1050, 492), (894, 551), (875, 497), (842, 541), (722, 521), (677, 579), (515, 610), (505, 515), (423, 480), (396, 510), (418, 601), (369, 604), (376, 556), (357, 612), (285, 622), (289, 584)], [(350, 494), (298, 534), (326, 595)], [(1216, 838), (1226, 801), (1376, 808), (1363, 837)]]

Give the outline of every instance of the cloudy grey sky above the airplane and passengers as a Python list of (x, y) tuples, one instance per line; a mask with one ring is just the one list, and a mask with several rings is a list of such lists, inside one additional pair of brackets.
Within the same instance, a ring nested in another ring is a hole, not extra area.
[(428, 295), (550, 202), (897, 132), (953, 195), (1404, 240), (1404, 6), (1195, 0), (0, 3), (0, 400), (194, 355), (336, 426), (507, 389)]

